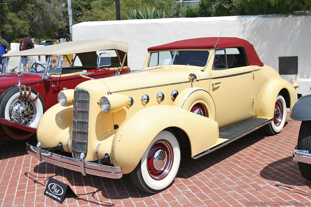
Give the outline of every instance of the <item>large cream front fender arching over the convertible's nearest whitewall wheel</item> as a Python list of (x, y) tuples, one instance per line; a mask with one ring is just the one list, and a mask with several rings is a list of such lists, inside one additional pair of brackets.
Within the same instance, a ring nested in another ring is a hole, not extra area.
[(110, 155), (114, 166), (122, 167), (124, 174), (132, 172), (153, 138), (169, 127), (178, 127), (187, 134), (192, 155), (219, 138), (218, 124), (212, 119), (176, 106), (151, 106), (133, 114), (118, 128)]

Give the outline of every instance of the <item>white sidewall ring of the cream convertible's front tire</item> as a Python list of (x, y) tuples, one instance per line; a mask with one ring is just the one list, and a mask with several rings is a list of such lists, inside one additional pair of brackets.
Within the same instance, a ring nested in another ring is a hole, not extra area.
[[(151, 147), (153, 146), (153, 144), (159, 140), (166, 140), (167, 142), (170, 143), (170, 145), (173, 148), (174, 159), (173, 159), (172, 168), (170, 169), (170, 172), (167, 174), (167, 176), (163, 179), (155, 180), (148, 173), (147, 157), (148, 157), (148, 153), (149, 153)], [(168, 187), (174, 181), (176, 174), (178, 172), (178, 169), (179, 169), (179, 164), (180, 164), (180, 146), (179, 146), (178, 140), (169, 131), (161, 131), (152, 140), (152, 142), (148, 146), (147, 150), (145, 151), (144, 155), (142, 156), (142, 159), (140, 162), (142, 178), (143, 178), (144, 182), (146, 183), (146, 185), (148, 187), (150, 187), (151, 189), (163, 190), (166, 187)]]

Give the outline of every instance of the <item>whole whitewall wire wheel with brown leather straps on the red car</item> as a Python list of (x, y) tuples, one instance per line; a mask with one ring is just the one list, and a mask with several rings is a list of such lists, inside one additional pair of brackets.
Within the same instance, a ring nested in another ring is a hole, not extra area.
[[(40, 94), (28, 86), (12, 87), (0, 96), (0, 116), (4, 119), (37, 128), (45, 112), (44, 101)], [(12, 139), (26, 139), (33, 133), (2, 125), (4, 134)]]

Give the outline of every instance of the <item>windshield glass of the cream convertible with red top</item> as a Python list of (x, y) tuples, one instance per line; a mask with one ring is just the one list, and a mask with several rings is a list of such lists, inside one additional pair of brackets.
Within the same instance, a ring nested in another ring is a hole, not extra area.
[(156, 65), (193, 65), (204, 67), (209, 50), (168, 50), (151, 52), (148, 66)]

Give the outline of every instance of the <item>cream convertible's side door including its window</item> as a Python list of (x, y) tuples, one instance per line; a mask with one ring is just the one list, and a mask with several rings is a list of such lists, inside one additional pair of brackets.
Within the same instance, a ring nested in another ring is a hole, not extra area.
[(209, 92), (219, 128), (249, 119), (253, 107), (253, 70), (241, 47), (215, 51)]

